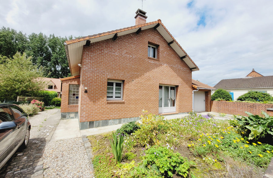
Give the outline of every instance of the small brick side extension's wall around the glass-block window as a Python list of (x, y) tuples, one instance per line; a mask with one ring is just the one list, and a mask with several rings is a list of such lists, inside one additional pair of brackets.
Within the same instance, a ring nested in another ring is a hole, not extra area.
[(79, 84), (79, 82), (80, 82), (80, 78), (73, 78), (73, 79), (62, 81), (61, 112), (78, 112), (78, 108), (79, 108), (78, 104), (68, 105), (68, 92), (69, 92), (69, 84)]

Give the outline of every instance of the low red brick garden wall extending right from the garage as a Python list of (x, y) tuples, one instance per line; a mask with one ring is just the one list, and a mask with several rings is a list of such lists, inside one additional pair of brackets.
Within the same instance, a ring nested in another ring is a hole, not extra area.
[(248, 111), (251, 114), (261, 116), (261, 111), (263, 110), (273, 116), (273, 112), (266, 110), (266, 108), (273, 108), (273, 104), (211, 101), (211, 112), (217, 113), (247, 116), (244, 112)]

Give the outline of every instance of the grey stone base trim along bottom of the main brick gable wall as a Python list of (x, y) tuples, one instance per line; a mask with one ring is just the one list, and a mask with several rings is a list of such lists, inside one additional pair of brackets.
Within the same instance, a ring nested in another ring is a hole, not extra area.
[(105, 127), (105, 126), (110, 126), (110, 125), (125, 124), (128, 122), (137, 121), (137, 120), (140, 120), (140, 118), (139, 117), (130, 117), (130, 118), (122, 118), (122, 119), (79, 122), (79, 129), (84, 130), (84, 129), (91, 129), (91, 128), (96, 128), (96, 127)]

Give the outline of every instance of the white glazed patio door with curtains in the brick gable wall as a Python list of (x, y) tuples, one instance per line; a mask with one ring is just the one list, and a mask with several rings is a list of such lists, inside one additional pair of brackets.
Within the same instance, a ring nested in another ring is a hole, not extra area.
[(175, 86), (159, 85), (158, 112), (175, 112)]

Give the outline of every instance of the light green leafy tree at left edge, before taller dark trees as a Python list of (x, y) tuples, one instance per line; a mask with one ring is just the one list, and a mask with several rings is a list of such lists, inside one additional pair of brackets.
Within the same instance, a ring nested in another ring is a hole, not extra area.
[[(4, 62), (2, 62), (4, 60)], [(45, 82), (39, 80), (42, 70), (17, 52), (13, 58), (0, 56), (0, 100), (16, 99), (17, 96), (31, 96), (35, 91), (42, 90)]]

